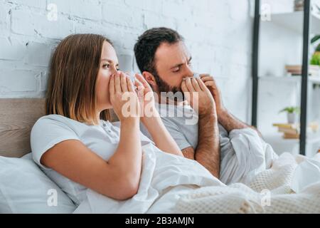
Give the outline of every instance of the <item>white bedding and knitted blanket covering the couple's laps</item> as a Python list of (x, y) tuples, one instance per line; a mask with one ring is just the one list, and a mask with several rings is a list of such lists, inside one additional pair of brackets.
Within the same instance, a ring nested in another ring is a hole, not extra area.
[[(305, 157), (278, 157), (250, 128), (233, 130), (229, 136), (235, 150), (221, 155), (221, 181), (198, 162), (162, 152), (150, 143), (142, 147), (137, 195), (119, 201), (87, 190), (87, 199), (74, 213), (286, 212), (286, 202), (299, 196), (297, 203), (308, 198), (309, 204), (315, 202), (313, 212), (320, 213), (320, 160), (307, 160), (309, 166)], [(314, 178), (306, 180), (311, 173)], [(274, 207), (262, 205), (264, 190), (270, 191), (267, 200)]]

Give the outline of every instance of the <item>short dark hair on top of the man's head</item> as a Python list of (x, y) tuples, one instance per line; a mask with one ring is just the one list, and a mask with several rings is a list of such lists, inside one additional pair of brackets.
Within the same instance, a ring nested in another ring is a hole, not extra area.
[(174, 44), (183, 41), (183, 37), (171, 28), (151, 28), (139, 36), (134, 45), (134, 55), (141, 72), (148, 71), (157, 75), (154, 57), (162, 43)]

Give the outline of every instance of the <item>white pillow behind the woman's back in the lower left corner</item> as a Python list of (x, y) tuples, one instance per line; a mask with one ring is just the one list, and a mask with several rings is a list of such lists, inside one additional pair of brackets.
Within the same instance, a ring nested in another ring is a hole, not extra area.
[(32, 160), (0, 156), (1, 213), (72, 213), (75, 204)]

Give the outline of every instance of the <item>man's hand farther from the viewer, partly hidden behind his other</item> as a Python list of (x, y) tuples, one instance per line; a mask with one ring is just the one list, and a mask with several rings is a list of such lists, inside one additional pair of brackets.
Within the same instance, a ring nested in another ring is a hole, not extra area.
[(213, 99), (215, 100), (215, 107), (217, 109), (218, 117), (219, 115), (223, 115), (223, 113), (227, 113), (227, 109), (223, 105), (222, 97), (220, 90), (215, 83), (215, 80), (212, 76), (208, 74), (203, 74), (200, 76), (201, 81), (207, 86), (207, 88), (210, 90), (211, 95), (213, 96)]

